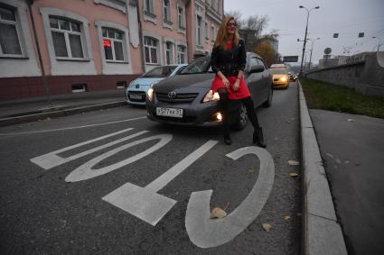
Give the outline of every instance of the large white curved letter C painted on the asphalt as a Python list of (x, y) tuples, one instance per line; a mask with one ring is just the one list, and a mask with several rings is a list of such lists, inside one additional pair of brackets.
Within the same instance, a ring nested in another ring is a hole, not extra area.
[(240, 148), (226, 156), (236, 160), (247, 154), (254, 154), (260, 159), (258, 180), (232, 213), (221, 219), (210, 219), (212, 190), (192, 193), (185, 215), (185, 228), (196, 246), (211, 248), (231, 241), (258, 217), (267, 203), (275, 178), (273, 159), (267, 150), (259, 147)]

